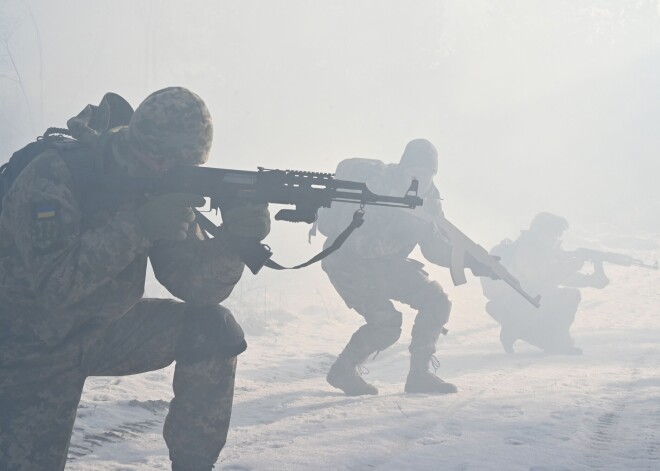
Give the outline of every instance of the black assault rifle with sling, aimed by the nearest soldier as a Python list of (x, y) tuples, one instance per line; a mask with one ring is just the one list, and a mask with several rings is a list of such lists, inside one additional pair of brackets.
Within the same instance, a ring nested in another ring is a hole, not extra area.
[[(313, 223), (320, 208), (329, 208), (334, 202), (357, 203), (360, 209), (351, 224), (337, 237), (332, 246), (309, 261), (293, 268), (302, 268), (337, 250), (348, 236), (363, 222), (364, 206), (389, 206), (414, 209), (423, 204), (417, 196), (418, 182), (412, 180), (403, 196), (378, 195), (366, 183), (337, 180), (332, 173), (303, 172), (298, 170), (230, 170), (212, 167), (177, 166), (163, 176), (148, 183), (153, 193), (194, 193), (210, 199), (210, 208), (231, 207), (241, 202), (293, 205), (281, 209), (275, 219), (289, 222)], [(197, 222), (202, 229), (213, 234), (217, 227), (199, 212)], [(262, 266), (283, 269), (270, 260), (270, 247), (258, 241), (236, 239), (234, 246), (253, 273)]]

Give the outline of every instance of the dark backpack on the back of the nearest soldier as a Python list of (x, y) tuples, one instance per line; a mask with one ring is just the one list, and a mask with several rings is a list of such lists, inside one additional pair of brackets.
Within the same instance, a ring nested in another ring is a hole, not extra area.
[[(68, 129), (48, 128), (43, 136), (12, 154), (9, 161), (0, 167), (0, 213), (2, 199), (20, 173), (37, 156), (46, 150), (55, 149), (60, 155), (71, 153), (83, 147), (92, 148), (109, 129), (127, 125), (133, 115), (133, 108), (116, 93), (106, 93), (98, 106), (87, 105), (77, 116), (67, 121)], [(65, 159), (75, 179), (79, 165)], [(79, 159), (77, 159), (79, 160)], [(87, 172), (89, 173), (89, 172)]]

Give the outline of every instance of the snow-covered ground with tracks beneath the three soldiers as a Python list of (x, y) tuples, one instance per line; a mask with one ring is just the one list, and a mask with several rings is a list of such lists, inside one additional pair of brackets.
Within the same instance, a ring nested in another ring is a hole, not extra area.
[[(600, 248), (652, 261), (660, 237), (601, 237)], [(239, 357), (221, 470), (660, 470), (660, 272), (606, 266), (611, 284), (583, 290), (573, 326), (582, 356), (517, 345), (506, 355), (479, 283), (453, 287), (438, 343), (449, 396), (408, 395), (407, 343), (367, 363), (379, 396), (346, 397), (325, 382), (361, 322), (318, 268), (246, 274), (229, 305), (250, 348)], [(268, 275), (270, 276), (270, 275)], [(161, 430), (172, 368), (90, 378), (67, 470), (169, 469)]]

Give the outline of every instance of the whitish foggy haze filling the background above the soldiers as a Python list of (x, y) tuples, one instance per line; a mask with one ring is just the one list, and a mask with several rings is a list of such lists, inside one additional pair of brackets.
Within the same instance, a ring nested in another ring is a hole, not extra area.
[(213, 114), (210, 165), (333, 171), (425, 137), (446, 214), (486, 245), (542, 210), (658, 230), (656, 1), (0, 8), (29, 102), (5, 55), (0, 160), (106, 91), (183, 85)]

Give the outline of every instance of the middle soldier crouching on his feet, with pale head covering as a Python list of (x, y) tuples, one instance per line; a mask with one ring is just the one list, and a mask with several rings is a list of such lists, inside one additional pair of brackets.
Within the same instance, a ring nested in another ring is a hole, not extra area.
[[(358, 170), (358, 169), (362, 170)], [(348, 159), (337, 167), (338, 178), (364, 179), (371, 191), (380, 194), (404, 193), (412, 178), (419, 180), (424, 205), (416, 211), (441, 215), (440, 196), (433, 184), (438, 170), (438, 153), (429, 141), (408, 143), (398, 164), (379, 160)], [(353, 210), (336, 205), (319, 215), (319, 229), (328, 241), (346, 226)], [(432, 219), (432, 218), (431, 218)], [(435, 344), (449, 319), (451, 302), (442, 287), (429, 279), (423, 264), (408, 258), (419, 245), (431, 263), (449, 266), (451, 248), (436, 226), (391, 208), (369, 208), (363, 226), (339, 250), (323, 260), (322, 267), (346, 302), (364, 317), (360, 327), (332, 365), (327, 381), (348, 395), (378, 394), (358, 373), (372, 353), (385, 350), (401, 335), (402, 314), (391, 300), (417, 310), (410, 343), (410, 372), (405, 391), (446, 394), (456, 392), (453, 384), (429, 371), (435, 363)], [(468, 261), (469, 263), (469, 261)], [(476, 269), (476, 263), (470, 268)]]

